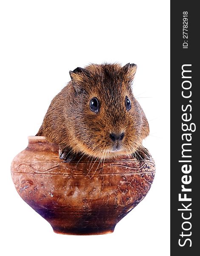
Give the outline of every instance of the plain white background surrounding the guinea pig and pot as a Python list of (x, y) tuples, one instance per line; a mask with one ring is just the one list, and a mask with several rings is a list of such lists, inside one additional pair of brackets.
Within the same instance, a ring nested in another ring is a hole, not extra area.
[[(0, 1), (1, 255), (169, 255), (169, 1)], [(51, 99), (89, 63), (138, 66), (134, 95), (156, 163), (146, 198), (101, 236), (53, 233), (17, 194), (11, 161)]]

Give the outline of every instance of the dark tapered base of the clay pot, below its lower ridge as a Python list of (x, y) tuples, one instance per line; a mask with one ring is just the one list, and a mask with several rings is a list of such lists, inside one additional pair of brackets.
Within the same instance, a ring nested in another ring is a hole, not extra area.
[[(35, 208), (35, 207), (34, 207)], [(101, 235), (114, 232), (115, 225), (123, 218), (123, 212), (102, 212), (100, 209), (89, 210), (52, 210), (36, 209), (54, 230), (54, 233), (66, 235)]]

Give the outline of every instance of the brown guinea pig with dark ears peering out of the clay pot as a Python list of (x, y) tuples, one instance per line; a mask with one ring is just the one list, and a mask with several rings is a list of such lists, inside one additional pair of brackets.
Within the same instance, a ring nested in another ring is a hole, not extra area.
[(149, 124), (134, 98), (135, 64), (91, 64), (70, 71), (71, 81), (52, 100), (36, 136), (60, 146), (65, 162), (79, 154), (99, 159), (149, 153)]

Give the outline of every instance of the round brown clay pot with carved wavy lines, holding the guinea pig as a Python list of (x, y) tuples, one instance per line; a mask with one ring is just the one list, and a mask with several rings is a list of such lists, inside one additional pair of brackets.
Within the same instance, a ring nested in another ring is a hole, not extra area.
[(123, 157), (100, 163), (89, 158), (64, 163), (58, 145), (28, 137), (11, 163), (18, 194), (55, 233), (106, 234), (143, 198), (154, 179), (154, 160)]

